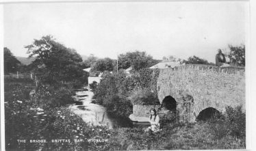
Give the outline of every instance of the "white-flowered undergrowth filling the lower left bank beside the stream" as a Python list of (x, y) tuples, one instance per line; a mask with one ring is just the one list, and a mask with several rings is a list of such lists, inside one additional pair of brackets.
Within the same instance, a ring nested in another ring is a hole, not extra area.
[[(29, 79), (5, 79), (6, 150), (110, 150), (107, 142), (87, 141), (110, 139), (112, 132), (107, 126), (90, 126), (66, 107), (39, 107), (38, 101), (29, 97), (29, 92), (34, 89), (32, 83)], [(38, 89), (49, 90), (45, 86)], [(42, 102), (47, 102), (45, 94), (40, 92), (40, 95), (44, 99)], [(18, 139), (27, 142), (18, 143)], [(47, 143), (30, 143), (31, 139), (46, 139)], [(52, 139), (70, 141), (52, 143)], [(74, 139), (83, 142), (75, 143)]]

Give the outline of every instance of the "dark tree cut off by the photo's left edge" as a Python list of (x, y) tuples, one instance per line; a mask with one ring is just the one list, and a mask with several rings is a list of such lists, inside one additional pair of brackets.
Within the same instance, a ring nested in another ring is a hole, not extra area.
[(12, 54), (10, 49), (7, 47), (3, 48), (3, 57), (4, 57), (4, 72), (9, 73), (9, 72), (15, 72), (18, 70), (18, 66), (21, 64), (16, 57)]

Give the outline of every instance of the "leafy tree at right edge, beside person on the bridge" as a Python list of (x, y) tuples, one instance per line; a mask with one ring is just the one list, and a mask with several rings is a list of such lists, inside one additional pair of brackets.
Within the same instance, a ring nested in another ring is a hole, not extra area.
[(230, 52), (227, 53), (229, 63), (233, 66), (245, 66), (245, 45), (232, 46), (229, 44)]

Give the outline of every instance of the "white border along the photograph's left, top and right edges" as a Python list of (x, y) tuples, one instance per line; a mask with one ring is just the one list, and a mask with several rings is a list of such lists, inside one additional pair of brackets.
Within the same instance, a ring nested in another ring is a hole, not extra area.
[[(34, 1), (24, 1), (24, 0), (16, 0), (16, 1), (8, 1), (8, 0), (0, 0), (0, 90), (1, 90), (1, 150), (5, 150), (5, 131), (4, 131), (4, 99), (3, 99), (3, 4), (12, 4), (12, 3), (99, 3), (99, 2), (133, 2), (136, 0), (80, 0), (80, 1), (63, 1), (63, 0), (34, 0)], [(141, 2), (151, 2), (156, 0), (138, 0)], [(164, 1), (164, 0), (160, 0)], [(168, 0), (168, 1), (177, 1), (177, 0)], [(181, 0), (181, 1), (193, 1), (193, 0)], [(203, 1), (203, 0), (198, 0)], [(218, 1), (218, 0), (212, 0)], [(239, 0), (225, 0), (225, 1), (239, 1)], [(246, 0), (240, 0), (246, 1)], [(207, 2), (207, 1), (205, 1)], [(254, 115), (256, 111), (256, 1), (251, 0), (248, 1), (248, 21), (246, 25), (246, 150), (256, 149), (256, 122)], [(255, 51), (253, 51), (255, 50)]]

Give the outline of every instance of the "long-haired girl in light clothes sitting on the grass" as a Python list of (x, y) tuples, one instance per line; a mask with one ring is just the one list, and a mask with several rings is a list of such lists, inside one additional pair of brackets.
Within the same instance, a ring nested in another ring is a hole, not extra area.
[(150, 112), (149, 122), (150, 122), (151, 126), (146, 128), (145, 132), (160, 131), (160, 124), (159, 124), (160, 119), (159, 119), (159, 115), (157, 115), (157, 111), (155, 111), (155, 109), (151, 109), (149, 112)]

